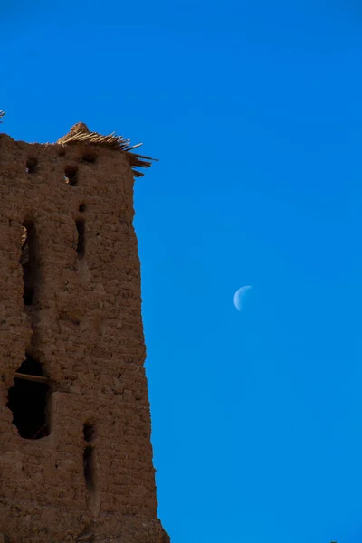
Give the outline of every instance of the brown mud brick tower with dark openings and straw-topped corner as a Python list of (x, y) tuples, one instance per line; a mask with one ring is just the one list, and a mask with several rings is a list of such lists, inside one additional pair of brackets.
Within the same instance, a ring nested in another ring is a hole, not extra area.
[(169, 541), (132, 225), (149, 165), (82, 123), (0, 134), (0, 542)]

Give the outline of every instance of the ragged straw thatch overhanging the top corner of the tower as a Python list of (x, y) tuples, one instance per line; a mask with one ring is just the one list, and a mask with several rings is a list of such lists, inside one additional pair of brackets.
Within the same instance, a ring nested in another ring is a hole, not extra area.
[(88, 127), (82, 122), (75, 124), (68, 134), (58, 139), (57, 143), (62, 145), (88, 143), (120, 151), (127, 155), (129, 164), (136, 177), (142, 177), (144, 174), (135, 170), (135, 167), (150, 167), (152, 161), (156, 160), (156, 158), (145, 157), (131, 152), (134, 149), (139, 148), (142, 145), (141, 143), (131, 146), (129, 139), (125, 139), (123, 136), (117, 136), (115, 132), (112, 132), (109, 136), (101, 136), (98, 132), (90, 132)]

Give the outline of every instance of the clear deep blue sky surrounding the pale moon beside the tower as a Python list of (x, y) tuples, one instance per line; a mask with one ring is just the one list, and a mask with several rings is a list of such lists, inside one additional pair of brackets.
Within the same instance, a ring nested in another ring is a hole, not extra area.
[(160, 159), (135, 225), (172, 543), (359, 543), (360, 2), (9, 4), (3, 129)]

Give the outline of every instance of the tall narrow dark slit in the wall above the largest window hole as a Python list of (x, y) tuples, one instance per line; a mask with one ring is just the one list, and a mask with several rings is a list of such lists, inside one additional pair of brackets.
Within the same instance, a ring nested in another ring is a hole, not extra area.
[(20, 263), (23, 267), (24, 304), (30, 306), (33, 304), (35, 287), (39, 280), (38, 245), (35, 227), (32, 221), (24, 221), (23, 223)]

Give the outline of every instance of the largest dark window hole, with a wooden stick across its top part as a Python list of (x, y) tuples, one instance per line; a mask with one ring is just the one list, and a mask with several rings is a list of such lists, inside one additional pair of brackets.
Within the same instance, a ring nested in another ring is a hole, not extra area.
[(6, 404), (13, 412), (13, 424), (24, 439), (49, 435), (48, 398), (49, 383), (40, 362), (26, 355), (15, 372)]

